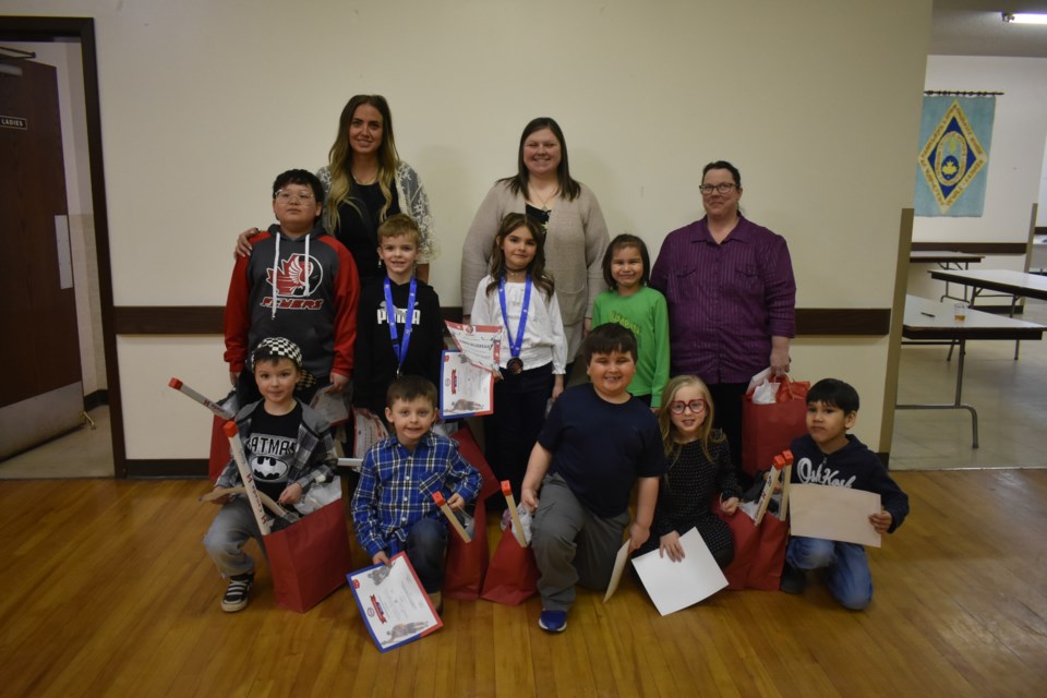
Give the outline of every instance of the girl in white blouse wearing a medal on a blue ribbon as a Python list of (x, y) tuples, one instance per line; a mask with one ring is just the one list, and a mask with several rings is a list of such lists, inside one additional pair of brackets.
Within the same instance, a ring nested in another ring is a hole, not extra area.
[(545, 421), (550, 398), (564, 390), (567, 340), (553, 279), (545, 274), (538, 222), (508, 214), (494, 238), (491, 273), (480, 280), (473, 325), (503, 328), (494, 385), (494, 413), (483, 420), (485, 456), (498, 480), (508, 480), (519, 501), (531, 447)]

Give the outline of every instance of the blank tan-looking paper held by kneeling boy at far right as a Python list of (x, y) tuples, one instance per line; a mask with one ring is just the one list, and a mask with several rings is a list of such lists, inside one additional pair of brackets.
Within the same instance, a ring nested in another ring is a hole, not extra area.
[(793, 535), (879, 547), (880, 534), (869, 522), (879, 514), (880, 495), (826, 484), (793, 484), (789, 489), (790, 532)]

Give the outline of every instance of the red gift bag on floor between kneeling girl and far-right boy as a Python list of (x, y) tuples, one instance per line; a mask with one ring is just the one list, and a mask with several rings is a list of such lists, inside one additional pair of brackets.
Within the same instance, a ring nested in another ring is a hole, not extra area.
[(768, 514), (756, 526), (741, 509), (734, 516), (724, 514), (719, 502), (713, 503), (712, 510), (727, 524), (734, 539), (734, 559), (723, 570), (727, 589), (778, 591), (785, 565), (789, 524)]

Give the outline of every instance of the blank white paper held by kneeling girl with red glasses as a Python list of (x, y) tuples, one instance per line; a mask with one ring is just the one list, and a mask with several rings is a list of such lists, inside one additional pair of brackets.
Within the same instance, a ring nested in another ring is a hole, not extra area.
[(674, 563), (654, 550), (633, 558), (640, 581), (662, 615), (675, 613), (711, 597), (727, 586), (727, 578), (713, 559), (698, 529), (679, 537), (684, 558)]

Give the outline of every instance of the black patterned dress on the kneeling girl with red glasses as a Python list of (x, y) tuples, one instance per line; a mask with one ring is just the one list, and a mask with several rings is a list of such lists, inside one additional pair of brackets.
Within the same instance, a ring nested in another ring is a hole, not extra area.
[[(717, 442), (718, 437), (722, 441)], [(731, 447), (723, 440), (722, 432), (713, 430), (709, 441), (711, 460), (698, 441), (679, 444), (667, 455), (669, 472), (659, 486), (651, 538), (637, 554), (658, 550), (659, 539), (670, 531), (683, 535), (697, 527), (721, 567), (734, 557), (731, 529), (710, 506), (719, 506), (721, 495), (724, 500), (741, 497), (742, 489), (735, 480)]]

